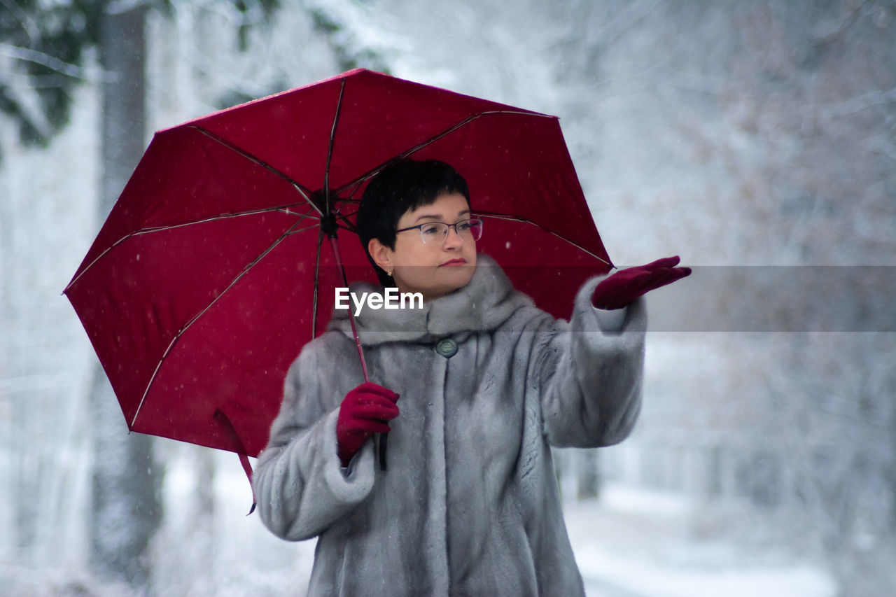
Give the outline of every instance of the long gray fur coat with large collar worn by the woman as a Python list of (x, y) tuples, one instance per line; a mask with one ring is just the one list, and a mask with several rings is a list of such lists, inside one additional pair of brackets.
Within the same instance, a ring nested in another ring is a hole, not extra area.
[[(370, 380), (401, 394), (388, 471), (367, 441), (336, 455), (340, 402), (362, 383), (349, 311), (289, 369), (254, 472), (263, 522), (318, 537), (311, 595), (581, 595), (549, 446), (607, 446), (641, 405), (642, 301), (616, 332), (579, 292), (571, 322), (479, 255), (464, 288), (358, 318)], [(373, 290), (372, 287), (353, 290)], [(436, 342), (452, 338), (445, 358)]]

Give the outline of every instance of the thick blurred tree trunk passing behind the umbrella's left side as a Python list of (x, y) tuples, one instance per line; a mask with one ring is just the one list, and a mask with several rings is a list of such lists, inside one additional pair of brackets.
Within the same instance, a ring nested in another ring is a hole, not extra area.
[[(146, 8), (102, 15), (102, 196), (105, 218), (145, 148)], [(91, 564), (104, 579), (138, 590), (149, 582), (148, 546), (161, 520), (160, 468), (151, 437), (130, 435), (118, 402), (99, 365), (90, 397), (93, 420)]]

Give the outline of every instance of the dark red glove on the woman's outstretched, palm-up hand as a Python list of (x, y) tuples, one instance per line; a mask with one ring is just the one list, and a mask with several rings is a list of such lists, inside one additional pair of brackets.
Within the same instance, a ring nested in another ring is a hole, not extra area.
[(676, 267), (678, 261), (676, 255), (620, 270), (600, 281), (591, 295), (591, 304), (599, 309), (621, 309), (650, 290), (691, 275), (690, 267)]

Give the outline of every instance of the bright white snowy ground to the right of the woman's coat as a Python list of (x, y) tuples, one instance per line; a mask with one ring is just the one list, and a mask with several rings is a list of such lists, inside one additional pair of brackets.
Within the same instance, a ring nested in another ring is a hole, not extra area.
[[(833, 597), (831, 575), (786, 553), (770, 556), (694, 536), (684, 498), (608, 486), (599, 504), (565, 506), (589, 597)], [(770, 549), (771, 550), (771, 549)]]

